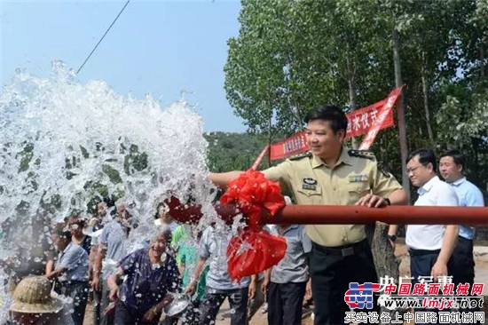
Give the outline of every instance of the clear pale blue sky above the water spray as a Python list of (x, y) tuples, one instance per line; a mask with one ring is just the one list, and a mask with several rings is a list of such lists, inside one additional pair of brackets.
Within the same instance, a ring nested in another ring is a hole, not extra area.
[[(15, 69), (51, 73), (51, 60), (75, 70), (126, 1), (0, 0), (0, 82)], [(185, 97), (198, 104), (206, 131), (245, 131), (224, 93), (227, 40), (239, 35), (239, 1), (131, 0), (83, 67), (81, 82), (104, 80), (121, 94)]]

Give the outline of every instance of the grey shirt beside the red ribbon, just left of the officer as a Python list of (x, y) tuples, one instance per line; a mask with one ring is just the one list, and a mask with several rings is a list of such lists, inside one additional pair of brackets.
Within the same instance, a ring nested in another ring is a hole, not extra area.
[(271, 281), (275, 283), (305, 282), (309, 280), (307, 257), (311, 251), (311, 240), (305, 234), (304, 226), (288, 226), (281, 231), (279, 226), (270, 226), (271, 234), (287, 241), (287, 253), (276, 266), (272, 267)]

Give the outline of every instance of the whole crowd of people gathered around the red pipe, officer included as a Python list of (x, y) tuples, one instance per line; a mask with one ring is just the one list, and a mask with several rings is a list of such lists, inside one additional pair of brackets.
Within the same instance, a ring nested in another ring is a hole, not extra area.
[[(310, 152), (263, 171), (266, 178), (279, 181), (295, 203), (372, 209), (407, 204), (405, 190), (374, 155), (343, 146), (348, 121), (339, 108), (317, 107), (306, 123)], [(459, 151), (448, 151), (437, 162), (432, 150), (421, 149), (405, 163), (418, 188), (415, 205), (484, 206), (479, 189), (463, 175), (465, 162)], [(444, 180), (437, 176), (437, 166)], [(210, 173), (209, 179), (224, 188), (239, 175), (240, 171)], [(115, 205), (104, 198), (92, 218), (72, 215), (51, 225), (51, 241), (41, 239), (34, 245), (44, 263), (32, 256), (32, 250), (28, 261), (4, 262), (11, 276), (13, 324), (83, 324), (89, 302), (96, 325), (215, 324), (225, 299), (232, 325), (248, 324), (265, 301), (269, 324), (297, 325), (303, 303), (311, 299), (315, 324), (343, 324), (350, 310), (344, 303), (350, 282), (378, 281), (363, 225), (265, 226), (286, 240), (285, 258), (263, 273), (232, 281), (226, 254), (231, 226), (217, 222), (199, 231), (177, 225), (161, 203), (154, 219), (156, 234), (129, 251), (127, 242), (137, 218), (125, 203)], [(390, 225), (388, 236), (394, 244), (397, 225)], [(419, 276), (431, 275), (436, 281), (453, 275), (454, 283), (473, 284), (474, 238), (471, 226), (407, 226), (413, 282)], [(70, 298), (70, 313), (62, 312), (59, 297)], [(185, 297), (188, 306), (183, 312), (165, 317), (165, 308)]]

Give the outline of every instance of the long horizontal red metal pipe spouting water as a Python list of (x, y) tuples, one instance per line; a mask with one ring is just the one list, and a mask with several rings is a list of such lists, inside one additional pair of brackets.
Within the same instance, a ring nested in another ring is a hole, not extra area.
[[(201, 205), (181, 204), (175, 197), (165, 201), (169, 214), (182, 223), (198, 223)], [(214, 204), (226, 223), (239, 210), (232, 205)], [(488, 225), (488, 207), (439, 207), (393, 205), (367, 208), (357, 205), (287, 205), (274, 217), (263, 214), (264, 224), (366, 225), (381, 221), (394, 225)]]

